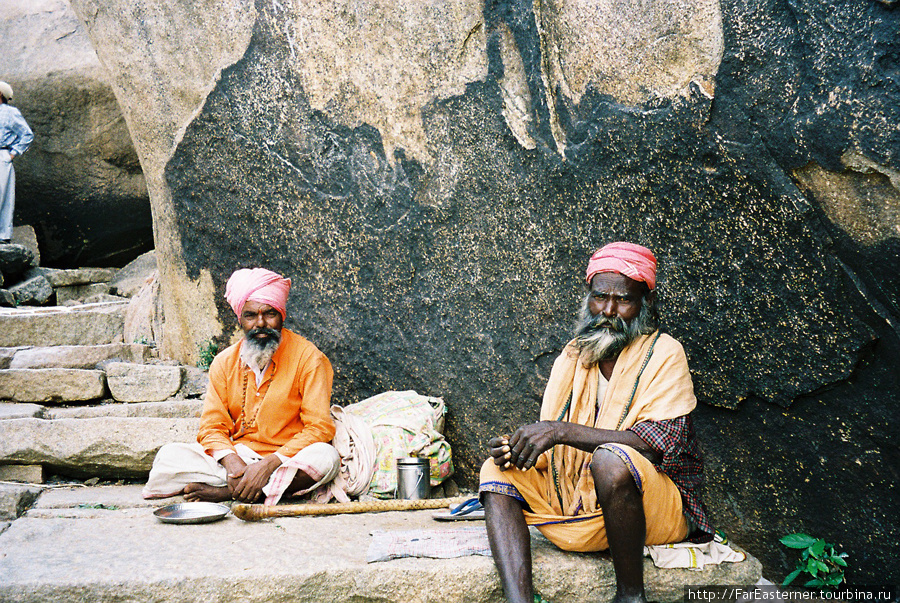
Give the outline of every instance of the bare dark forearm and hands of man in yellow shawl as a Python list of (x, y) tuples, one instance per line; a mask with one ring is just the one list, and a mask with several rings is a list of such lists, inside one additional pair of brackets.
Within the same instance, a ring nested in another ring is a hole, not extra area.
[(508, 466), (531, 469), (543, 452), (559, 444), (585, 452), (593, 452), (603, 444), (623, 444), (634, 448), (651, 462), (659, 461), (659, 453), (632, 431), (596, 429), (565, 421), (523, 425), (508, 438), (501, 436), (490, 441), (494, 463), (503, 469)]

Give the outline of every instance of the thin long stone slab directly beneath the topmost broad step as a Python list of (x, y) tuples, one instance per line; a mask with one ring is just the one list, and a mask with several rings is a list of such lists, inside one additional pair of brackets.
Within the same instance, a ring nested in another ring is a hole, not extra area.
[(8, 357), (7, 366), (0, 368), (80, 368), (92, 369), (107, 360), (146, 363), (154, 356), (154, 348), (139, 343), (107, 343), (102, 345), (59, 345), (29, 348), (2, 348), (0, 362)]

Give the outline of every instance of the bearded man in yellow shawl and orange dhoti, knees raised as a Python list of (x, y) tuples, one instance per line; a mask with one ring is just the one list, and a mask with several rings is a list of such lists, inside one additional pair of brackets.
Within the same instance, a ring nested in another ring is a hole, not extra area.
[(656, 258), (618, 242), (587, 266), (575, 338), (540, 421), (490, 441), (481, 469), (491, 552), (509, 601), (532, 603), (528, 526), (567, 551), (609, 550), (615, 601), (645, 601), (644, 545), (711, 540), (681, 344), (658, 330)]

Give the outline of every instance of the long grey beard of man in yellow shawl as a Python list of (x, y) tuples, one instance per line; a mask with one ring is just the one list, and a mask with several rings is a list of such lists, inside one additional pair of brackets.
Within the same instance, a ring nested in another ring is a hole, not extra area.
[(616, 358), (632, 341), (656, 330), (656, 321), (646, 299), (641, 302), (640, 313), (631, 322), (625, 322), (618, 316), (591, 316), (589, 300), (590, 296), (585, 298), (575, 324), (575, 345), (584, 357), (585, 366)]

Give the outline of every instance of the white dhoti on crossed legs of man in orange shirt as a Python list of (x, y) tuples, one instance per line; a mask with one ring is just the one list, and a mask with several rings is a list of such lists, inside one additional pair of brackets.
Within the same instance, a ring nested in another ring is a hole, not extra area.
[[(262, 460), (262, 456), (244, 444), (236, 444), (235, 452), (248, 465)], [(301, 496), (331, 482), (341, 468), (341, 456), (331, 444), (316, 442), (310, 444), (282, 463), (269, 477), (263, 487), (265, 504), (274, 505), (281, 500), (284, 491), (294, 480), (297, 470), (316, 480), (316, 483), (294, 496)], [(181, 494), (191, 483), (207, 484), (216, 488), (228, 482), (228, 471), (213, 457), (206, 454), (198, 443), (166, 444), (156, 453), (150, 477), (144, 486), (144, 498), (168, 498)], [(327, 495), (330, 498), (330, 494)]]

